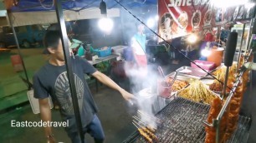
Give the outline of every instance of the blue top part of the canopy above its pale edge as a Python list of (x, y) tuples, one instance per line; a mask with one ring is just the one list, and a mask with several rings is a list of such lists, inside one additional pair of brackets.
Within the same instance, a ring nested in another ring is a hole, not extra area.
[[(35, 11), (49, 11), (54, 10), (54, 0), (20, 0), (18, 6), (12, 7), (12, 12), (35, 12)], [(62, 7), (65, 10), (77, 8), (76, 11), (99, 7), (101, 0), (63, 0)], [(107, 8), (120, 7), (115, 0), (105, 0)], [(149, 5), (156, 5), (157, 0), (118, 0), (126, 8), (146, 7)]]

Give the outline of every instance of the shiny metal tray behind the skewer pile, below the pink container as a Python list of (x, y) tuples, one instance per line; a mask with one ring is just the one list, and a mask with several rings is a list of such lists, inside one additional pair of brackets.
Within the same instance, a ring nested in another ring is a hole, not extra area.
[(202, 69), (200, 68), (195, 68), (195, 67), (180, 67), (176, 70), (177, 72), (179, 72), (179, 74), (182, 74), (184, 76), (189, 76), (192, 78), (201, 78), (203, 76), (207, 76), (207, 72), (202, 71)]

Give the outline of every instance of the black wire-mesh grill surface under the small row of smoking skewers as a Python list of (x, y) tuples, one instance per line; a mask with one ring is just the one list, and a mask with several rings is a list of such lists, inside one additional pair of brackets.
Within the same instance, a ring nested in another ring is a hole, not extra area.
[[(172, 100), (156, 114), (156, 117), (162, 121), (161, 124), (157, 125), (158, 127), (155, 132), (158, 141), (161, 143), (204, 142), (206, 133), (202, 121), (207, 119), (209, 109), (209, 105), (189, 101), (181, 97)], [(250, 121), (248, 117), (240, 116), (238, 129), (228, 142), (247, 141)], [(123, 143), (146, 142), (138, 131), (135, 131), (123, 141)]]

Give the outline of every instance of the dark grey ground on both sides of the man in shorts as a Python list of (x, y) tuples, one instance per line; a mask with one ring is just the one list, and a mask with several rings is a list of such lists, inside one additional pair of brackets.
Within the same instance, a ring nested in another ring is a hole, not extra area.
[[(120, 96), (119, 92), (113, 91), (105, 86), (100, 86), (100, 91), (95, 92), (95, 101), (100, 109), (98, 114), (105, 131), (106, 143), (122, 142), (136, 129), (131, 124), (131, 116), (134, 111), (130, 110), (126, 101)], [(53, 121), (61, 121), (59, 111), (52, 109)], [(27, 104), (9, 111), (0, 117), (0, 142), (45, 142), (44, 129), (36, 128), (12, 128), (11, 121), (39, 121), (40, 116), (34, 115), (31, 107)], [(69, 137), (64, 128), (54, 129), (54, 136), (59, 142), (69, 143)], [(93, 142), (90, 136), (85, 137), (87, 141)]]

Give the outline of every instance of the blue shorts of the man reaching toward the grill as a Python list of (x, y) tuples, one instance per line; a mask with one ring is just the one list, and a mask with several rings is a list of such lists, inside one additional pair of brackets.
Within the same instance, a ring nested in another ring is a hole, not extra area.
[[(100, 124), (100, 120), (98, 116), (94, 116), (94, 119), (90, 122), (90, 124), (83, 128), (84, 135), (85, 133), (89, 133), (95, 139), (95, 143), (103, 143), (105, 140), (104, 131)], [(71, 139), (72, 143), (80, 143), (80, 138), (78, 132), (68, 132), (68, 136)], [(86, 141), (84, 141), (86, 142)]]

